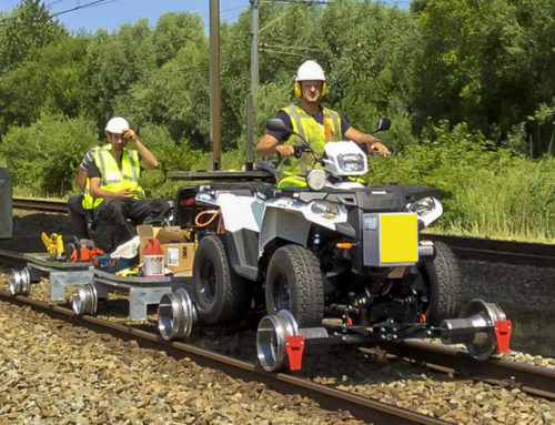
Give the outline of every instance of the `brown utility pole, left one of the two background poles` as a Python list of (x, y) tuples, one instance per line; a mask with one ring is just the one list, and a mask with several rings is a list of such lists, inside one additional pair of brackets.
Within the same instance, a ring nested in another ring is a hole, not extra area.
[(212, 171), (220, 171), (222, 161), (220, 92), (220, 0), (210, 0), (210, 144)]

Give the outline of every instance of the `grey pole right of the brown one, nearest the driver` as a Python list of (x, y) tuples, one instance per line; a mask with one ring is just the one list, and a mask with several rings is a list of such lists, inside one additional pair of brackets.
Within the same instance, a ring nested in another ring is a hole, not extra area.
[(251, 92), (246, 95), (246, 169), (254, 163), (254, 94), (259, 87), (259, 0), (251, 1)]

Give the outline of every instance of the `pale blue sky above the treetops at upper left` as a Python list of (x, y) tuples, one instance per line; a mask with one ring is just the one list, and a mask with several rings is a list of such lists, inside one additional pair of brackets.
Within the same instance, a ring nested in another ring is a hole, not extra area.
[[(19, 3), (19, 0), (0, 0), (0, 12), (9, 12)], [(57, 17), (70, 32), (81, 29), (94, 32), (99, 28), (111, 32), (123, 23), (137, 22), (139, 18), (149, 18), (150, 24), (154, 26), (162, 14), (171, 11), (198, 13), (204, 19), (206, 31), (209, 28), (210, 0), (44, 0), (43, 3), (52, 14), (97, 3)], [(220, 0), (220, 20), (234, 22), (248, 8), (249, 0)]]

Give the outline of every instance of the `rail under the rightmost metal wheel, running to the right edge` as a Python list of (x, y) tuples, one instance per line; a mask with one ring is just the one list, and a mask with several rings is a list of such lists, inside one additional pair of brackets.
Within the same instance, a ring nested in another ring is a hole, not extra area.
[(555, 401), (555, 370), (552, 368), (496, 357), (477, 362), (463, 350), (417, 340), (383, 343), (380, 347), (391, 356), (407, 358), (437, 372), (518, 387), (527, 394)]

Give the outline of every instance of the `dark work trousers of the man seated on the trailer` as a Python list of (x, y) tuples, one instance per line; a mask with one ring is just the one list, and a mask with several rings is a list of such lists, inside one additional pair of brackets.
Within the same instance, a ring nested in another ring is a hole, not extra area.
[(110, 227), (112, 251), (137, 235), (135, 225), (161, 225), (170, 211), (170, 203), (163, 199), (125, 200), (105, 198), (93, 210), (97, 225)]

